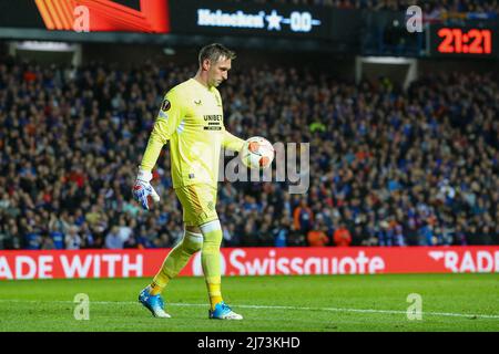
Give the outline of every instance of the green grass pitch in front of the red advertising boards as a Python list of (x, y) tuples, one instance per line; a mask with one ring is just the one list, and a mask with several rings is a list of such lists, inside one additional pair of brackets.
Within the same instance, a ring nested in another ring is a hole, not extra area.
[[(499, 274), (226, 277), (224, 300), (243, 321), (207, 319), (203, 278), (177, 278), (164, 292), (172, 319), (136, 301), (150, 279), (0, 282), (0, 331), (499, 331)], [(90, 319), (74, 319), (74, 295)], [(410, 293), (422, 319), (409, 321)]]

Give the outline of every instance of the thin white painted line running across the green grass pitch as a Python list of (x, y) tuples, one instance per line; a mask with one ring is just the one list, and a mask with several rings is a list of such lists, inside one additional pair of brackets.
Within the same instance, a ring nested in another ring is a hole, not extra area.
[[(75, 303), (72, 301), (40, 301), (40, 300), (8, 300), (0, 299), (0, 302), (28, 302), (28, 303)], [(130, 305), (139, 304), (134, 301), (90, 301), (90, 304), (102, 304), (102, 305)], [(182, 303), (173, 302), (166, 303), (170, 306), (205, 306), (206, 303)], [(374, 310), (374, 309), (342, 309), (342, 308), (305, 308), (305, 306), (274, 306), (274, 305), (244, 305), (237, 304), (235, 308), (241, 309), (257, 309), (257, 310), (293, 310), (293, 311), (330, 311), (330, 312), (356, 312), (356, 313), (390, 313), (390, 314), (406, 314), (407, 311), (398, 310)], [(495, 314), (473, 314), (473, 313), (452, 313), (452, 312), (421, 312), (421, 315), (434, 315), (434, 316), (451, 316), (451, 317), (481, 317), (481, 319), (493, 319), (499, 320), (499, 315)]]

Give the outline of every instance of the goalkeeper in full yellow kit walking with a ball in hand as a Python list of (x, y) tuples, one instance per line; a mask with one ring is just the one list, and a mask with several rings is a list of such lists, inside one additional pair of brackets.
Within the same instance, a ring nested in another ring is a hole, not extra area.
[(170, 317), (164, 311), (161, 292), (191, 256), (201, 250), (211, 303), (210, 319), (243, 319), (222, 299), (222, 228), (215, 210), (221, 147), (238, 152), (245, 144), (225, 131), (222, 98), (216, 90), (227, 79), (234, 58), (234, 52), (222, 44), (206, 45), (200, 51), (196, 75), (166, 93), (132, 190), (145, 209), (149, 209), (149, 197), (160, 200), (150, 184), (151, 170), (163, 145), (170, 140), (173, 188), (183, 207), (184, 236), (139, 295), (139, 301), (157, 317)]

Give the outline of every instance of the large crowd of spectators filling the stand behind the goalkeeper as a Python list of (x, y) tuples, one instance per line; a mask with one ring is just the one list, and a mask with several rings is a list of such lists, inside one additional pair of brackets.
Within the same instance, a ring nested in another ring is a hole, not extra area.
[[(164, 148), (144, 211), (131, 187), (164, 93), (196, 67), (0, 62), (0, 249), (172, 247), (182, 208)], [(499, 243), (499, 77), (340, 82), (293, 66), (231, 72), (225, 125), (310, 146), (306, 194), (218, 188), (224, 246)]]

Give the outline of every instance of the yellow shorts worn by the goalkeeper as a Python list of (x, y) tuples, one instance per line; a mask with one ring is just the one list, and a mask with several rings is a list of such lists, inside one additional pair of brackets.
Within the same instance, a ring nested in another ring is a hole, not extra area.
[(215, 210), (216, 188), (210, 185), (191, 185), (175, 188), (182, 204), (186, 226), (200, 226), (218, 219)]

